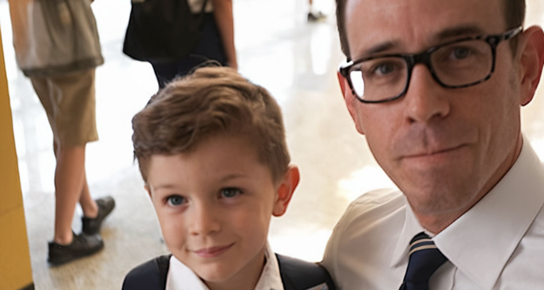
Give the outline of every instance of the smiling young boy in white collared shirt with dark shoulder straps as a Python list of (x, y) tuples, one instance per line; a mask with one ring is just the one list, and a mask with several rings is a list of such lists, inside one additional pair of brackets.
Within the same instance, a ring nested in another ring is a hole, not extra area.
[(131, 270), (123, 289), (334, 289), (315, 263), (275, 255), (271, 216), (299, 182), (281, 111), (227, 67), (166, 85), (132, 120), (135, 159), (172, 255)]

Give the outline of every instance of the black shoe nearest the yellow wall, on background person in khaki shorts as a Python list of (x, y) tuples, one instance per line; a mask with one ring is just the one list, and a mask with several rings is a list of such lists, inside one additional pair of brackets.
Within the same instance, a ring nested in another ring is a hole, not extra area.
[(83, 232), (79, 235), (73, 234), (73, 239), (70, 244), (60, 245), (55, 242), (49, 242), (49, 256), (47, 262), (52, 266), (59, 266), (89, 256), (104, 247), (104, 242), (100, 235), (86, 235)]

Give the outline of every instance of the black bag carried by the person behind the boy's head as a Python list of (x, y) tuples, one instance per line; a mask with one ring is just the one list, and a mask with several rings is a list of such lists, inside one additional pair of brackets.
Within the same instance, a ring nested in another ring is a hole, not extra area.
[(207, 2), (193, 14), (187, 0), (132, 0), (123, 53), (155, 63), (184, 58), (199, 41)]

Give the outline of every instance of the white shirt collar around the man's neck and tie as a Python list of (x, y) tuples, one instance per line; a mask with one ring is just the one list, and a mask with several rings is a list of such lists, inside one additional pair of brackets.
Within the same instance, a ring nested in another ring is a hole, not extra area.
[[(524, 138), (526, 140), (526, 138)], [(528, 142), (492, 190), (433, 241), (454, 266), (482, 289), (492, 289), (506, 262), (544, 204), (544, 169)], [(407, 256), (410, 239), (422, 231), (406, 206), (406, 220), (391, 265)], [(478, 251), (471, 250), (478, 245)]]

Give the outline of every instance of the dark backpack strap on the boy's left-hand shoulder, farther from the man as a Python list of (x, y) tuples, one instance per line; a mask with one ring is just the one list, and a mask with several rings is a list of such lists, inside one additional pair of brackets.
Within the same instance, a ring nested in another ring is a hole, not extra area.
[(156, 257), (132, 269), (123, 281), (122, 290), (164, 290), (170, 256), (172, 255)]

